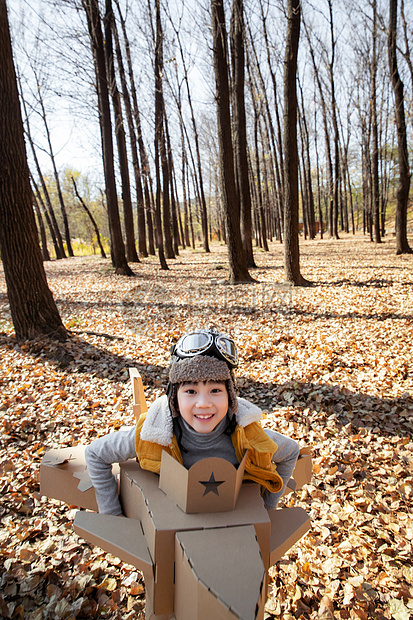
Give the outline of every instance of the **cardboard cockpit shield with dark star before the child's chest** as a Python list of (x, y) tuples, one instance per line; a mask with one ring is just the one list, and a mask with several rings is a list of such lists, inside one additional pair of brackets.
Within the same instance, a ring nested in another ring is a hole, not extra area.
[(246, 459), (247, 453), (238, 468), (225, 459), (213, 457), (202, 459), (186, 469), (164, 451), (159, 487), (187, 513), (233, 510)]

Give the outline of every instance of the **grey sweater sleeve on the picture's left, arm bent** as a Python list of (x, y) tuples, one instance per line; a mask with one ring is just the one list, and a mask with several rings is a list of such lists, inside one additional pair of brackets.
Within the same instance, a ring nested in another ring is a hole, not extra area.
[(99, 512), (120, 515), (122, 508), (118, 483), (112, 474), (112, 464), (122, 463), (136, 456), (135, 427), (110, 433), (86, 446), (87, 470), (95, 488)]

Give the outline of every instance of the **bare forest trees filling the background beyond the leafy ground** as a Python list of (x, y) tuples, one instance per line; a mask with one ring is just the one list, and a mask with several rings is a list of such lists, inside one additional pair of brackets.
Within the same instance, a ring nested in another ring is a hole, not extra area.
[[(411, 114), (413, 103), (403, 82), (412, 82), (412, 28), (404, 0), (324, 0), (317, 11), (305, 2), (172, 7), (148, 0), (134, 10), (120, 0), (56, 7), (61, 18), (77, 20), (59, 41), (60, 53), (64, 41), (78, 49), (75, 58), (67, 51), (66, 65), (94, 83), (100, 200), (91, 200), (81, 177), (75, 187), (58, 172), (47, 111), (56, 83), (39, 60), (41, 40), (38, 56), (26, 49), (30, 71), (20, 75), (20, 95), (45, 260), (48, 239), (57, 258), (73, 255), (82, 220), (96, 245), (109, 238), (117, 273), (131, 275), (129, 263), (155, 252), (167, 269), (179, 248), (198, 238), (208, 252), (217, 238), (228, 245), (230, 279), (248, 281), (253, 247), (267, 250), (269, 240), (284, 242), (286, 257), (299, 255), (301, 231), (309, 239), (339, 238), (362, 227), (380, 243), (389, 201), (397, 253), (411, 251), (405, 108)], [(58, 36), (56, 26), (48, 34)], [(216, 119), (212, 106), (207, 116), (197, 109), (199, 57)], [(34, 116), (43, 124), (49, 177), (39, 165)], [(286, 277), (298, 283), (301, 276)]]

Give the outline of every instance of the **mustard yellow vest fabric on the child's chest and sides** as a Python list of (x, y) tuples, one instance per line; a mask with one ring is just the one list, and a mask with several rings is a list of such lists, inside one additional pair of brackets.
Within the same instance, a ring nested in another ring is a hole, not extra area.
[[(182, 463), (182, 455), (175, 435), (173, 435), (169, 446), (161, 446), (141, 439), (140, 433), (145, 419), (146, 414), (142, 414), (138, 420), (135, 434), (136, 456), (142, 469), (159, 474), (162, 450)], [(244, 480), (258, 482), (271, 493), (280, 491), (283, 482), (277, 473), (275, 463), (271, 461), (272, 455), (277, 450), (277, 444), (268, 437), (261, 424), (252, 422), (245, 427), (237, 426), (231, 435), (231, 439), (239, 462), (242, 461), (245, 452), (248, 450)]]

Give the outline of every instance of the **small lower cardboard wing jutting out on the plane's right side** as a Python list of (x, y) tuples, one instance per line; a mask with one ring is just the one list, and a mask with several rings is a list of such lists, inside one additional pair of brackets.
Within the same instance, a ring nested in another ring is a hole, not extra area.
[(271, 520), (270, 566), (275, 564), (310, 529), (310, 517), (303, 508), (269, 510)]

